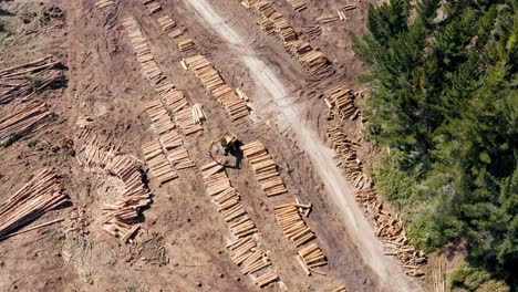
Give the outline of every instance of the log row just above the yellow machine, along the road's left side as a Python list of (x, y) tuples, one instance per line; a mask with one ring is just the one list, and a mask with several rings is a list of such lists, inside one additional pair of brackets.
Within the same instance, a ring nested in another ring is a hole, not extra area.
[(190, 71), (200, 80), (205, 88), (213, 97), (221, 104), (232, 119), (238, 119), (248, 115), (246, 102), (225, 83), (214, 64), (203, 55), (195, 55), (185, 59), (185, 63)]

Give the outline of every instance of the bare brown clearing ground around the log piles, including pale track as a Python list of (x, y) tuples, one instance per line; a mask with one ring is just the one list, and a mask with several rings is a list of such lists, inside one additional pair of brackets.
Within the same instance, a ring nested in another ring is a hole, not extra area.
[[(201, 103), (207, 111), (204, 132), (185, 138), (198, 166), (209, 161), (210, 139), (231, 131), (245, 143), (263, 142), (281, 167), (289, 195), (276, 198), (262, 195), (246, 161), (241, 169), (227, 171), (257, 223), (261, 243), (270, 251), (286, 289), (332, 291), (345, 285), (349, 291), (419, 290), (417, 283), (403, 277), (395, 260), (383, 257), (376, 260), (380, 243), (372, 228), (360, 218), (352, 200), (336, 198), (340, 188), (344, 188), (343, 196), (352, 198), (351, 188), (330, 180), (336, 170), (329, 165), (331, 150), (324, 145), (322, 93), (343, 83), (352, 84), (361, 73), (349, 33), (364, 27), (366, 2), (359, 2), (358, 9), (346, 12), (346, 21), (322, 25), (323, 34), (311, 43), (330, 56), (334, 73), (312, 77), (278, 39), (260, 31), (255, 24), (256, 17), (238, 1), (159, 1), (160, 13), (169, 14), (186, 29), (224, 79), (250, 96), (253, 109), (250, 118), (237, 122), (230, 122), (194, 75), (182, 69), (183, 55), (139, 1), (117, 1), (106, 11), (95, 9), (94, 2), (0, 2), (0, 12), (9, 12), (0, 15), (0, 22), (10, 23), (6, 28), (11, 31), (9, 35), (0, 33), (0, 69), (46, 54), (55, 55), (68, 66), (68, 86), (38, 96), (51, 106), (55, 122), (0, 148), (0, 201), (45, 166), (63, 176), (63, 186), (72, 200), (70, 208), (39, 219), (63, 217), (66, 218), (63, 225), (0, 241), (0, 291), (259, 290), (230, 261), (225, 249), (230, 233), (195, 170), (182, 170), (177, 180), (162, 187), (153, 179), (149, 181), (154, 202), (144, 211), (143, 228), (132, 243), (124, 244), (101, 229), (102, 204), (117, 186), (104, 175), (80, 167), (65, 145), (79, 132), (75, 122), (81, 115), (93, 117), (95, 133), (120, 144), (123, 153), (139, 158), (141, 145), (153, 138), (142, 105), (157, 96), (142, 76), (121, 27), (121, 20), (128, 15), (141, 24), (165, 75), (186, 92), (190, 102)], [(228, 30), (213, 27), (214, 22), (197, 12), (194, 6), (206, 2), (236, 35), (229, 36)], [(296, 28), (315, 24), (317, 17), (345, 4), (310, 2), (308, 10), (293, 12), (286, 1), (276, 1)], [(53, 7), (64, 11), (64, 19), (42, 22), (40, 12)], [(45, 29), (40, 31), (42, 27)], [(0, 105), (0, 116), (17, 106), (20, 106), (17, 102)], [(350, 135), (360, 137), (358, 123), (344, 126)], [(363, 147), (362, 154), (369, 155), (369, 149)], [(228, 163), (234, 163), (234, 158), (229, 157)], [(294, 196), (313, 204), (308, 223), (329, 258), (329, 265), (321, 269), (325, 277), (303, 273), (293, 258), (294, 249), (274, 221), (273, 206)], [(344, 215), (344, 210), (351, 212)], [(79, 230), (70, 230), (77, 225)], [(387, 270), (391, 267), (395, 269)], [(273, 284), (263, 290), (282, 288)]]

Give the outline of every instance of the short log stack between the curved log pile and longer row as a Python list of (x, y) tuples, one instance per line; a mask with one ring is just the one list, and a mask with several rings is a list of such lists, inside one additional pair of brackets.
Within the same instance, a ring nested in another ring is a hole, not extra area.
[(143, 144), (142, 153), (144, 154), (149, 173), (160, 185), (178, 177), (164, 155), (160, 143), (153, 140)]

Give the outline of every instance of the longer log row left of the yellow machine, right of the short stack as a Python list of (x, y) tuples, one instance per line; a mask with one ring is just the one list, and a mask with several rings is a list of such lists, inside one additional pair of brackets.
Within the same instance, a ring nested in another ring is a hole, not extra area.
[[(159, 137), (163, 152), (166, 155), (169, 164), (173, 167), (175, 167), (177, 170), (195, 167), (195, 164), (190, 159), (189, 154), (184, 146), (182, 137), (175, 131), (175, 124), (170, 119), (162, 102), (153, 101), (153, 102), (146, 103), (144, 107), (146, 108), (147, 114), (149, 115), (152, 119), (153, 128), (155, 129), (156, 134)], [(191, 116), (190, 108), (186, 108), (186, 111), (187, 111), (187, 115)], [(198, 128), (195, 132), (201, 129), (199, 125), (195, 125), (195, 126), (198, 126)], [(189, 131), (191, 132), (193, 129), (189, 129)], [(187, 132), (184, 129), (185, 135), (191, 134), (190, 132)], [(179, 145), (178, 145), (178, 142), (180, 142)]]

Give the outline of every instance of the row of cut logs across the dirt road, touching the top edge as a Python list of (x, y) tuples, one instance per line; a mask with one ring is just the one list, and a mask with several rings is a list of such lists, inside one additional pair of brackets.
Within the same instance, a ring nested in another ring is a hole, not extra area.
[(271, 1), (245, 0), (244, 3), (261, 15), (256, 21), (261, 30), (267, 34), (276, 33), (288, 52), (294, 55), (308, 72), (319, 75), (331, 70), (331, 61), (325, 54), (313, 49), (309, 42), (299, 39), (289, 20), (276, 10)]

